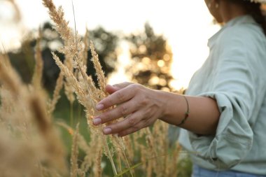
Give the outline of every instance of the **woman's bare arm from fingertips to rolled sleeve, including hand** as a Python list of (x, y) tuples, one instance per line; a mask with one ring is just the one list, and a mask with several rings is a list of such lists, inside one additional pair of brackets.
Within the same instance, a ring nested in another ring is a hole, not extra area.
[[(97, 110), (103, 113), (94, 118), (94, 125), (121, 117), (125, 119), (104, 127), (104, 134), (125, 136), (152, 125), (158, 119), (196, 134), (216, 133), (220, 113), (214, 99), (186, 96), (187, 103), (183, 95), (151, 90), (131, 83), (108, 85), (106, 91), (110, 95), (97, 104)], [(190, 113), (183, 122), (188, 107)]]

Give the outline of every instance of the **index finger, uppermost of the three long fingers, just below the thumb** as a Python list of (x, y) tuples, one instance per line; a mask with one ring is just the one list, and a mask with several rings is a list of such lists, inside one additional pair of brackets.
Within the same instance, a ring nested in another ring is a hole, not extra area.
[[(109, 89), (112, 90), (113, 88), (109, 87)], [(113, 94), (109, 95), (109, 97), (99, 101), (96, 108), (98, 111), (102, 111), (106, 108), (110, 108), (111, 106), (122, 104), (123, 102), (132, 99), (132, 97), (134, 97), (134, 90), (132, 90), (130, 87), (123, 87), (122, 89), (113, 92)]]

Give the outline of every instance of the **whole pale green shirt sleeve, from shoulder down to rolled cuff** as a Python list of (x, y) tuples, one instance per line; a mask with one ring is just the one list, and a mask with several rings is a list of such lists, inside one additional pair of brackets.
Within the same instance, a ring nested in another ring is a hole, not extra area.
[[(234, 34), (235, 32), (235, 34)], [(248, 43), (245, 31), (232, 30), (223, 35), (216, 48), (216, 64), (209, 77), (207, 92), (198, 94), (216, 100), (221, 113), (216, 134), (200, 136), (189, 133), (197, 157), (211, 162), (218, 169), (230, 169), (246, 157), (253, 143), (250, 120), (254, 119), (260, 90), (261, 66), (254, 55), (257, 46)], [(232, 37), (233, 36), (233, 37)], [(246, 38), (245, 38), (246, 37)]]

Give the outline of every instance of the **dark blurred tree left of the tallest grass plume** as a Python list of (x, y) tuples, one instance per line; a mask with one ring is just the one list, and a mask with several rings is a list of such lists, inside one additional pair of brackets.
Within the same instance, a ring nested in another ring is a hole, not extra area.
[[(21, 47), (16, 51), (8, 52), (10, 61), (22, 76), (25, 83), (31, 82), (31, 77), (34, 72), (34, 50), (36, 45), (36, 31), (30, 31), (22, 40)], [(52, 29), (52, 24), (46, 22), (41, 27), (42, 41), (42, 57), (43, 57), (43, 85), (46, 89), (54, 89), (59, 69), (52, 59), (51, 52), (56, 52), (56, 49), (62, 46), (63, 41), (59, 38), (59, 34)], [(59, 52), (57, 55), (64, 59), (64, 56)]]

